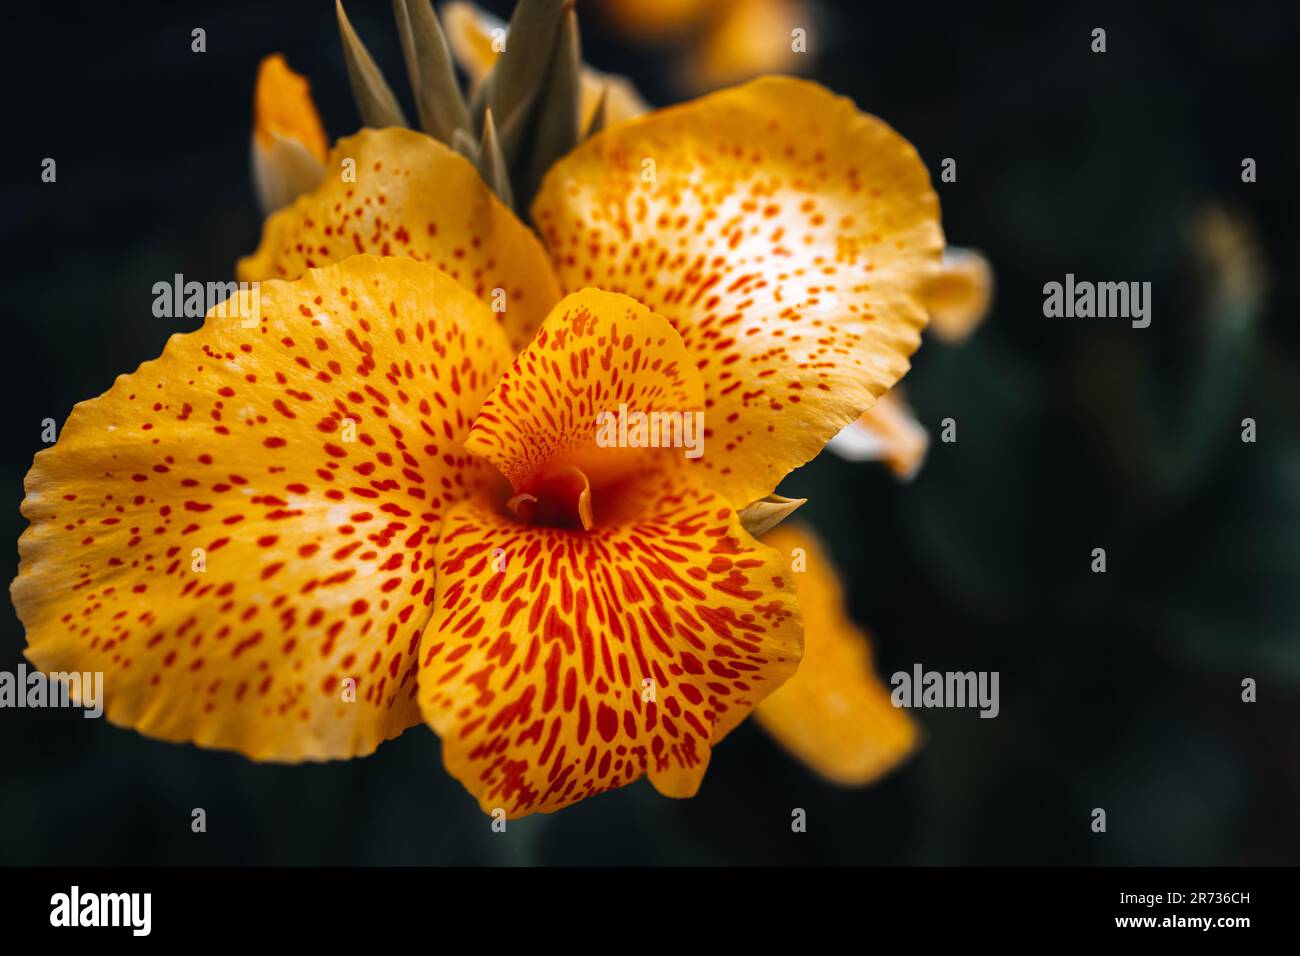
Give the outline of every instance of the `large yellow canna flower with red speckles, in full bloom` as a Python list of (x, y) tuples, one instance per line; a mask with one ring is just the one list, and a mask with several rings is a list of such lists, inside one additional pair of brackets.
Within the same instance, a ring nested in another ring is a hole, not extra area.
[[(429, 66), (432, 12), (398, 7)], [(512, 34), (552, 7), (547, 35), (576, 49), (563, 4), (525, 1)], [(363, 113), (385, 113), (348, 49)], [(532, 195), (511, 183), (549, 148), (560, 57), (537, 83), (510, 56), (477, 142), (456, 125), (473, 103), (438, 105), (455, 146), (341, 139), (238, 264), (256, 294), (73, 410), (26, 480), (26, 654), (104, 671), (120, 726), (255, 760), (360, 756), (425, 723), (512, 818), (642, 777), (693, 795), (764, 700), (814, 766), (868, 779), (910, 724), (876, 709), (832, 585), (755, 535), (909, 367), (942, 250), (926, 168), (850, 101), (770, 77), (608, 126)], [(439, 70), (412, 70), (429, 126)], [(530, 86), (536, 105), (511, 99)], [(498, 135), (497, 111), (534, 134)], [(529, 195), (536, 232), (511, 208)], [(606, 447), (620, 407), (702, 412), (703, 454)], [(814, 669), (788, 683), (810, 622)], [(807, 705), (837, 672), (850, 704)]]

